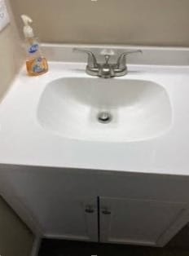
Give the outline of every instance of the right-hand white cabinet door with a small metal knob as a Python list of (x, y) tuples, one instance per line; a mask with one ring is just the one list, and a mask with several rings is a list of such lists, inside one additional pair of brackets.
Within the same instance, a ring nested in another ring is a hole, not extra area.
[(100, 241), (163, 246), (188, 222), (186, 206), (101, 197)]

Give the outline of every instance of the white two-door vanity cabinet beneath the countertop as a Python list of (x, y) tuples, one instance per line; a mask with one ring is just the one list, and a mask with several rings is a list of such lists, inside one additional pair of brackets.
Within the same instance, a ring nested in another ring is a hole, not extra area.
[(187, 177), (6, 166), (0, 192), (51, 238), (163, 246), (189, 221)]

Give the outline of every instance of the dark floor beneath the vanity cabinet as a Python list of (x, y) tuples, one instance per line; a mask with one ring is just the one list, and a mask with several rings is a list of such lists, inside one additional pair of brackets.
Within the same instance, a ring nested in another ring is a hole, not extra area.
[(165, 248), (108, 245), (77, 241), (42, 241), (38, 256), (189, 256), (189, 227), (184, 227)]

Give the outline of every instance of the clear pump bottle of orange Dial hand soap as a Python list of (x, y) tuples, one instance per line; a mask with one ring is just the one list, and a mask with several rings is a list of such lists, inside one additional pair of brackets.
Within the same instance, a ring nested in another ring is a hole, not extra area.
[(26, 68), (29, 76), (39, 76), (48, 71), (46, 58), (42, 56), (38, 39), (34, 37), (33, 28), (29, 25), (33, 22), (28, 15), (21, 15), (24, 22), (24, 37), (26, 43), (27, 60)]

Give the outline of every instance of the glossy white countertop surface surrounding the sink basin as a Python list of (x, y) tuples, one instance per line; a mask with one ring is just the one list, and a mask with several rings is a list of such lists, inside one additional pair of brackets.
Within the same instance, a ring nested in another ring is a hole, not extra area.
[(189, 66), (129, 66), (138, 72), (126, 78), (165, 87), (174, 115), (164, 135), (130, 143), (65, 139), (37, 121), (46, 84), (59, 77), (86, 77), (85, 66), (51, 62), (49, 73), (39, 77), (28, 77), (22, 68), (0, 105), (0, 163), (189, 175)]

